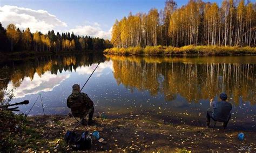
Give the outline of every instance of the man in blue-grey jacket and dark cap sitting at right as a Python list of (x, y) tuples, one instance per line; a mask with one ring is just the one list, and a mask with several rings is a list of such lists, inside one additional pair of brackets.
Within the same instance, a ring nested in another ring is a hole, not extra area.
[(215, 121), (220, 121), (224, 122), (223, 126), (224, 128), (227, 127), (227, 123), (231, 118), (231, 110), (232, 110), (232, 105), (228, 103), (227, 100), (227, 94), (226, 93), (221, 93), (220, 94), (220, 99), (221, 101), (213, 101), (211, 99), (210, 101), (210, 106), (213, 108), (212, 111), (207, 111), (207, 126), (210, 127), (210, 121), (211, 118)]

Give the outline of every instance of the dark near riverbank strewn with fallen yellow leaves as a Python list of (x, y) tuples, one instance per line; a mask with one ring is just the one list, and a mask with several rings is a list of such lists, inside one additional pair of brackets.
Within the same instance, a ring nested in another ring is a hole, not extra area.
[[(216, 129), (192, 125), (176, 125), (164, 121), (154, 122), (138, 116), (119, 119), (95, 118), (96, 123), (88, 127), (89, 132), (98, 130), (106, 144), (93, 140), (90, 151), (112, 152), (238, 152), (243, 146), (255, 151), (255, 131), (246, 131), (245, 140), (237, 139), (240, 131)], [(64, 143), (67, 130), (75, 126), (76, 120), (64, 115), (30, 116), (20, 132), (2, 133), (2, 147), (6, 151), (71, 152)], [(81, 126), (78, 130), (84, 130)], [(3, 148), (1, 148), (3, 149)]]

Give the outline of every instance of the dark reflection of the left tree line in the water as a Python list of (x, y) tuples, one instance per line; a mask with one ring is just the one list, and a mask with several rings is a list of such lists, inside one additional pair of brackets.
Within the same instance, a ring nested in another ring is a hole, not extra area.
[(3, 98), (4, 90), (8, 88), (11, 82), (14, 88), (18, 88), (25, 77), (29, 77), (31, 81), (37, 73), (41, 77), (45, 72), (57, 75), (63, 71), (76, 71), (82, 66), (91, 66), (104, 62), (105, 57), (102, 54), (81, 54), (81, 55), (53, 55), (39, 56), (35, 59), (17, 60), (0, 63), (0, 100)]

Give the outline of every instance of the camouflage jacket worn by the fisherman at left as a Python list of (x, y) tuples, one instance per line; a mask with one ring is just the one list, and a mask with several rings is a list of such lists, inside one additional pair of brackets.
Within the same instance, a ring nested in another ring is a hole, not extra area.
[(93, 107), (93, 101), (86, 93), (72, 93), (68, 97), (66, 105), (71, 108), (73, 116), (82, 117), (88, 113), (90, 108)]

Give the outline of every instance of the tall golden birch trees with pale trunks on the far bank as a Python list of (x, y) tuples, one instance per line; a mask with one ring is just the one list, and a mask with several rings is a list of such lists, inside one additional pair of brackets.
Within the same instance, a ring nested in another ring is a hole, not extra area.
[(116, 20), (112, 39), (120, 34), (114, 47), (146, 47), (187, 45), (255, 46), (256, 4), (244, 0), (217, 3), (190, 0), (177, 8), (173, 0), (164, 10), (129, 14)]

